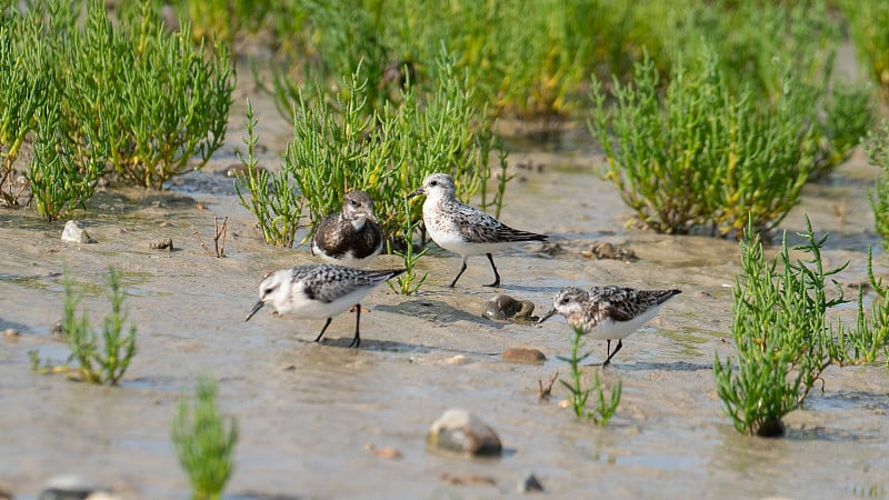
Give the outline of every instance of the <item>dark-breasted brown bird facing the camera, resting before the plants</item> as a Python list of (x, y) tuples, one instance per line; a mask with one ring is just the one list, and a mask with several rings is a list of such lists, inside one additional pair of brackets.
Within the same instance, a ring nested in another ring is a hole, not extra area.
[(342, 212), (321, 219), (314, 227), (312, 256), (340, 266), (366, 267), (382, 251), (382, 229), (372, 203), (364, 191), (346, 193)]

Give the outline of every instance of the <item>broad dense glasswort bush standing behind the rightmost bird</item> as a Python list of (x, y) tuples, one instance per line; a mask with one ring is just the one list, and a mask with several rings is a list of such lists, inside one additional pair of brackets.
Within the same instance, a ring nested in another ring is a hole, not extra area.
[(615, 80), (613, 107), (593, 82), (588, 124), (606, 152), (603, 177), (660, 232), (705, 228), (737, 238), (748, 221), (757, 231), (773, 228), (811, 173), (805, 117), (812, 102), (790, 78), (773, 108), (763, 108), (749, 89), (731, 91), (716, 56), (702, 66), (678, 64), (661, 91), (646, 60), (631, 83)]

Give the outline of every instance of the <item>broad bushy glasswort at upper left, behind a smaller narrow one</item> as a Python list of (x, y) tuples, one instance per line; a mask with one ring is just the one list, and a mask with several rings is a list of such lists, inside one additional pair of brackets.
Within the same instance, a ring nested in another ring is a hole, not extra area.
[(168, 34), (152, 2), (121, 17), (112, 23), (104, 2), (91, 0), (82, 29), (74, 19), (58, 34), (63, 116), (79, 142), (108, 141), (121, 178), (161, 189), (222, 146), (234, 77), (224, 48), (196, 49), (188, 24)]

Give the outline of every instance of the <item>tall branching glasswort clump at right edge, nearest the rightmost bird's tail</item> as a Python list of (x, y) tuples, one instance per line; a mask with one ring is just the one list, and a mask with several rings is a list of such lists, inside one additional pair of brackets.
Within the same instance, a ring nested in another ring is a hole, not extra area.
[(870, 280), (882, 299), (872, 308), (871, 321), (865, 318), (859, 292), (856, 327), (832, 327), (827, 312), (846, 300), (831, 277), (849, 262), (825, 268), (821, 249), (827, 234), (817, 237), (806, 217), (806, 231), (798, 233), (805, 242), (793, 250), (809, 257), (792, 260), (785, 232), (780, 253), (767, 262), (758, 234), (751, 232), (748, 228), (740, 242), (741, 272), (732, 290), (738, 368), (730, 358), (723, 361), (716, 354), (713, 374), (736, 429), (775, 436), (783, 431), (781, 418), (801, 406), (818, 381), (823, 389), (828, 367), (871, 362), (878, 350), (887, 350), (887, 287), (871, 270)]

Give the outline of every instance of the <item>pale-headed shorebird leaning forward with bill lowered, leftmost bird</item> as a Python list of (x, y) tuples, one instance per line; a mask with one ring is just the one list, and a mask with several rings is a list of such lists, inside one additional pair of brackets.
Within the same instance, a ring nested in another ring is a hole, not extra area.
[[(403, 269), (366, 271), (333, 264), (308, 264), (282, 269), (259, 284), (259, 301), (247, 314), (249, 321), (267, 303), (280, 314), (299, 319), (327, 319), (320, 341), (334, 316), (359, 303), (374, 287), (404, 272)], [(349, 347), (361, 346), (358, 331), (361, 308), (356, 308), (354, 338)]]

